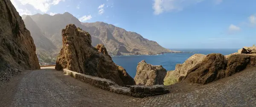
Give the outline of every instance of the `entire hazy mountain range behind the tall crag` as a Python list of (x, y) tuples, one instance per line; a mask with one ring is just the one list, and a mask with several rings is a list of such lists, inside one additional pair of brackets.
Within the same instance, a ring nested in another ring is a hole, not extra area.
[(75, 24), (89, 32), (92, 45), (104, 44), (110, 55), (156, 55), (177, 52), (163, 48), (156, 41), (143, 38), (138, 33), (126, 31), (111, 24), (82, 23), (68, 12), (54, 16), (49, 14), (23, 15), (22, 19), (34, 39), (40, 62), (55, 60), (62, 48), (61, 30), (67, 24)]

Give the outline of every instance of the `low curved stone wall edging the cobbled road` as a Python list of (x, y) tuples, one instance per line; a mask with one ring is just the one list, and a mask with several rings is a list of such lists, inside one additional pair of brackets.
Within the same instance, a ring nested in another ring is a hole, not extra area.
[(156, 96), (156, 95), (169, 93), (169, 91), (166, 90), (163, 85), (152, 85), (152, 86), (127, 85), (126, 87), (122, 87), (117, 85), (115, 82), (111, 80), (107, 80), (105, 78), (80, 74), (74, 71), (70, 71), (68, 69), (63, 69), (63, 71), (65, 74), (68, 74), (71, 77), (74, 77), (82, 82), (86, 82), (97, 88), (101, 88), (113, 93), (123, 94), (127, 96), (144, 98), (148, 96)]

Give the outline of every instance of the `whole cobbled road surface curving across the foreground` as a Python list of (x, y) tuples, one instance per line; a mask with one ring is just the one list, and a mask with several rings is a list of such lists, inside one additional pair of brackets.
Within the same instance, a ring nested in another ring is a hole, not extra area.
[(20, 80), (7, 107), (256, 107), (255, 77), (253, 68), (189, 91), (140, 99), (95, 88), (54, 69), (41, 69)]

